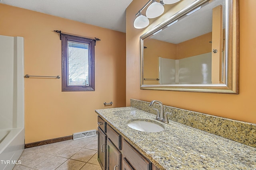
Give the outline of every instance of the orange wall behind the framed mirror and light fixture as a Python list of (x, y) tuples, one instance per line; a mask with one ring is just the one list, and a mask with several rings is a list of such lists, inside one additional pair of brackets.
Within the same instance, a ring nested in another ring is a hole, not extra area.
[[(192, 2), (193, 0), (190, 0)], [(145, 29), (135, 29), (135, 14), (148, 0), (133, 0), (126, 10), (126, 106), (130, 106), (130, 98), (144, 100), (160, 100), (168, 106), (180, 107), (227, 117), (231, 119), (256, 123), (256, 6), (255, 0), (240, 0), (240, 94), (214, 94), (200, 92), (176, 92), (162, 90), (140, 90), (140, 35), (152, 29), (161, 17), (150, 20)], [(189, 0), (182, 0), (173, 5), (173, 9), (162, 16), (174, 14), (178, 8)], [(165, 8), (168, 5), (165, 6)], [(145, 10), (142, 12), (145, 13)], [(164, 20), (164, 19), (162, 19)]]

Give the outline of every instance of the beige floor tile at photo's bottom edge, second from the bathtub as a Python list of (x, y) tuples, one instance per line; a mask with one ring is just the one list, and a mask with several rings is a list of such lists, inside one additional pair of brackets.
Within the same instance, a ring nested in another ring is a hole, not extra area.
[(34, 168), (37, 170), (55, 170), (56, 168), (58, 168), (58, 166), (63, 164), (66, 160), (68, 160), (68, 159), (62, 158), (59, 156), (51, 156), (50, 158), (48, 158), (44, 162), (38, 164)]

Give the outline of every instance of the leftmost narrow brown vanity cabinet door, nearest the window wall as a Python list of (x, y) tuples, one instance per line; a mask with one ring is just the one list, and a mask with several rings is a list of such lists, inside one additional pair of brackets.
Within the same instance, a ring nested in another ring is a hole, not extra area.
[(98, 162), (102, 170), (106, 169), (106, 139), (105, 133), (98, 127)]

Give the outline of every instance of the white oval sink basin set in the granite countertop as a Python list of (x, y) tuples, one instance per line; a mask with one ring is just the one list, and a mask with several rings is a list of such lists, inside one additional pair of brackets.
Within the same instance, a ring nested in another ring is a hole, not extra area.
[(149, 121), (131, 121), (127, 125), (132, 129), (143, 132), (160, 132), (164, 130), (162, 126)]

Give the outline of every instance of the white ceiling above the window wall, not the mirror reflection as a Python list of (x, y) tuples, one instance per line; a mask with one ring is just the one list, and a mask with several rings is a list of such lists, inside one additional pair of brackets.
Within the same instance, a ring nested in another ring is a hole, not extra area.
[[(0, 0), (0, 3), (126, 32), (132, 0)], [(135, 15), (135, 14), (134, 14)]]

